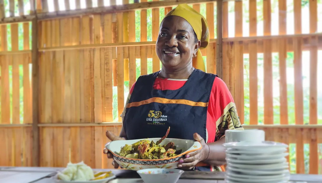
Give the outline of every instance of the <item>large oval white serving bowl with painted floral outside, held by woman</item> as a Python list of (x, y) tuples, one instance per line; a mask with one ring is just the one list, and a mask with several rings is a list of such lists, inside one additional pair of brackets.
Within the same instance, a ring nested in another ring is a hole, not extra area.
[[(157, 142), (161, 138), (149, 138), (149, 141)], [(125, 146), (125, 144), (133, 144), (144, 139), (137, 140), (120, 140), (120, 141), (112, 141), (105, 145), (106, 149), (109, 150), (113, 154), (113, 159), (118, 163), (122, 168), (130, 169), (130, 170), (140, 170), (140, 169), (155, 169), (155, 168), (167, 168), (167, 169), (175, 169), (177, 168), (179, 159), (184, 157), (185, 154), (193, 151), (197, 151), (201, 149), (200, 142), (196, 142), (194, 140), (184, 140), (184, 139), (164, 139), (160, 145), (163, 146), (169, 142), (174, 142), (176, 149), (182, 149), (182, 153), (177, 156), (157, 159), (157, 160), (143, 160), (143, 159), (132, 159), (125, 158), (119, 155), (119, 151), (121, 147)]]

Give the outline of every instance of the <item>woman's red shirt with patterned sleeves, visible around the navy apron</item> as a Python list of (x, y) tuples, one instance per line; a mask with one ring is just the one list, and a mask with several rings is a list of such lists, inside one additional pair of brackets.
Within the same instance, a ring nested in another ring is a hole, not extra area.
[[(153, 88), (158, 90), (176, 90), (182, 87), (186, 81), (187, 79), (156, 78)], [(128, 100), (134, 86), (135, 83), (130, 89)], [(228, 117), (228, 115), (230, 115), (230, 117)], [(225, 130), (235, 128), (243, 129), (237, 116), (234, 100), (223, 80), (216, 77), (208, 102), (206, 124), (207, 139), (205, 139), (205, 141), (207, 143), (215, 142), (224, 136)]]

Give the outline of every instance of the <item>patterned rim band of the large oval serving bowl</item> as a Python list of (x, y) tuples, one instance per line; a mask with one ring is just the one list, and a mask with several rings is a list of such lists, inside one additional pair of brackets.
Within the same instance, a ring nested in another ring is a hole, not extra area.
[[(145, 138), (145, 139), (148, 139), (148, 138)], [(134, 139), (136, 141), (140, 141), (140, 140), (145, 140), (145, 139)], [(154, 139), (154, 138), (150, 138), (150, 139)], [(156, 139), (159, 139), (159, 138), (156, 138)], [(173, 139), (173, 138), (167, 138), (167, 139)], [(185, 141), (193, 141), (193, 140), (186, 140), (186, 139), (174, 139), (174, 140), (185, 140)], [(124, 141), (124, 140), (120, 140), (120, 141)], [(132, 141), (132, 140), (131, 140)], [(118, 154), (115, 154), (113, 151), (110, 150), (109, 148), (109, 144), (110, 143), (115, 143), (115, 142), (118, 142), (118, 141), (111, 141), (111, 142), (108, 142), (106, 145), (105, 145), (105, 148), (113, 154), (113, 156), (117, 156), (118, 158), (123, 158), (123, 159), (127, 159), (127, 160), (138, 160), (138, 161), (163, 161), (163, 160), (170, 160), (170, 159), (175, 159), (177, 157), (181, 157), (182, 155), (185, 155), (189, 152), (193, 152), (193, 151), (197, 151), (197, 150), (200, 150), (202, 148), (202, 145), (200, 142), (198, 141), (194, 141), (194, 144), (192, 144), (192, 146), (185, 152), (182, 152), (181, 154), (178, 154), (176, 156), (173, 156), (173, 157), (169, 157), (169, 158), (163, 158), (163, 159), (155, 159), (155, 160), (146, 160), (146, 159), (134, 159), (134, 158), (126, 158), (126, 157), (123, 157), (123, 156), (120, 156)], [(195, 147), (196, 146), (196, 147)], [(174, 161), (175, 162), (175, 161)]]

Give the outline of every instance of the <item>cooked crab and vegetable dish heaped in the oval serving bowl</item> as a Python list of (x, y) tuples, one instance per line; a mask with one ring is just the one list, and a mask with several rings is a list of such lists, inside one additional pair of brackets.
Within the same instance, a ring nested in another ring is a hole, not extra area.
[(145, 160), (164, 159), (181, 154), (181, 149), (175, 150), (176, 146), (174, 142), (169, 142), (164, 146), (159, 145), (168, 136), (169, 131), (170, 127), (168, 128), (166, 135), (156, 143), (144, 139), (131, 145), (125, 144), (125, 146), (121, 147), (119, 154), (126, 158)]

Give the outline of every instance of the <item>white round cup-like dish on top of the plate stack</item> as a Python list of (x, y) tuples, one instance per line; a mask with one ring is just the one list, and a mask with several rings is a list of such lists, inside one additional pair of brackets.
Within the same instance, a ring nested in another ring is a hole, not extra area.
[(265, 132), (263, 130), (226, 130), (225, 142), (263, 142)]

